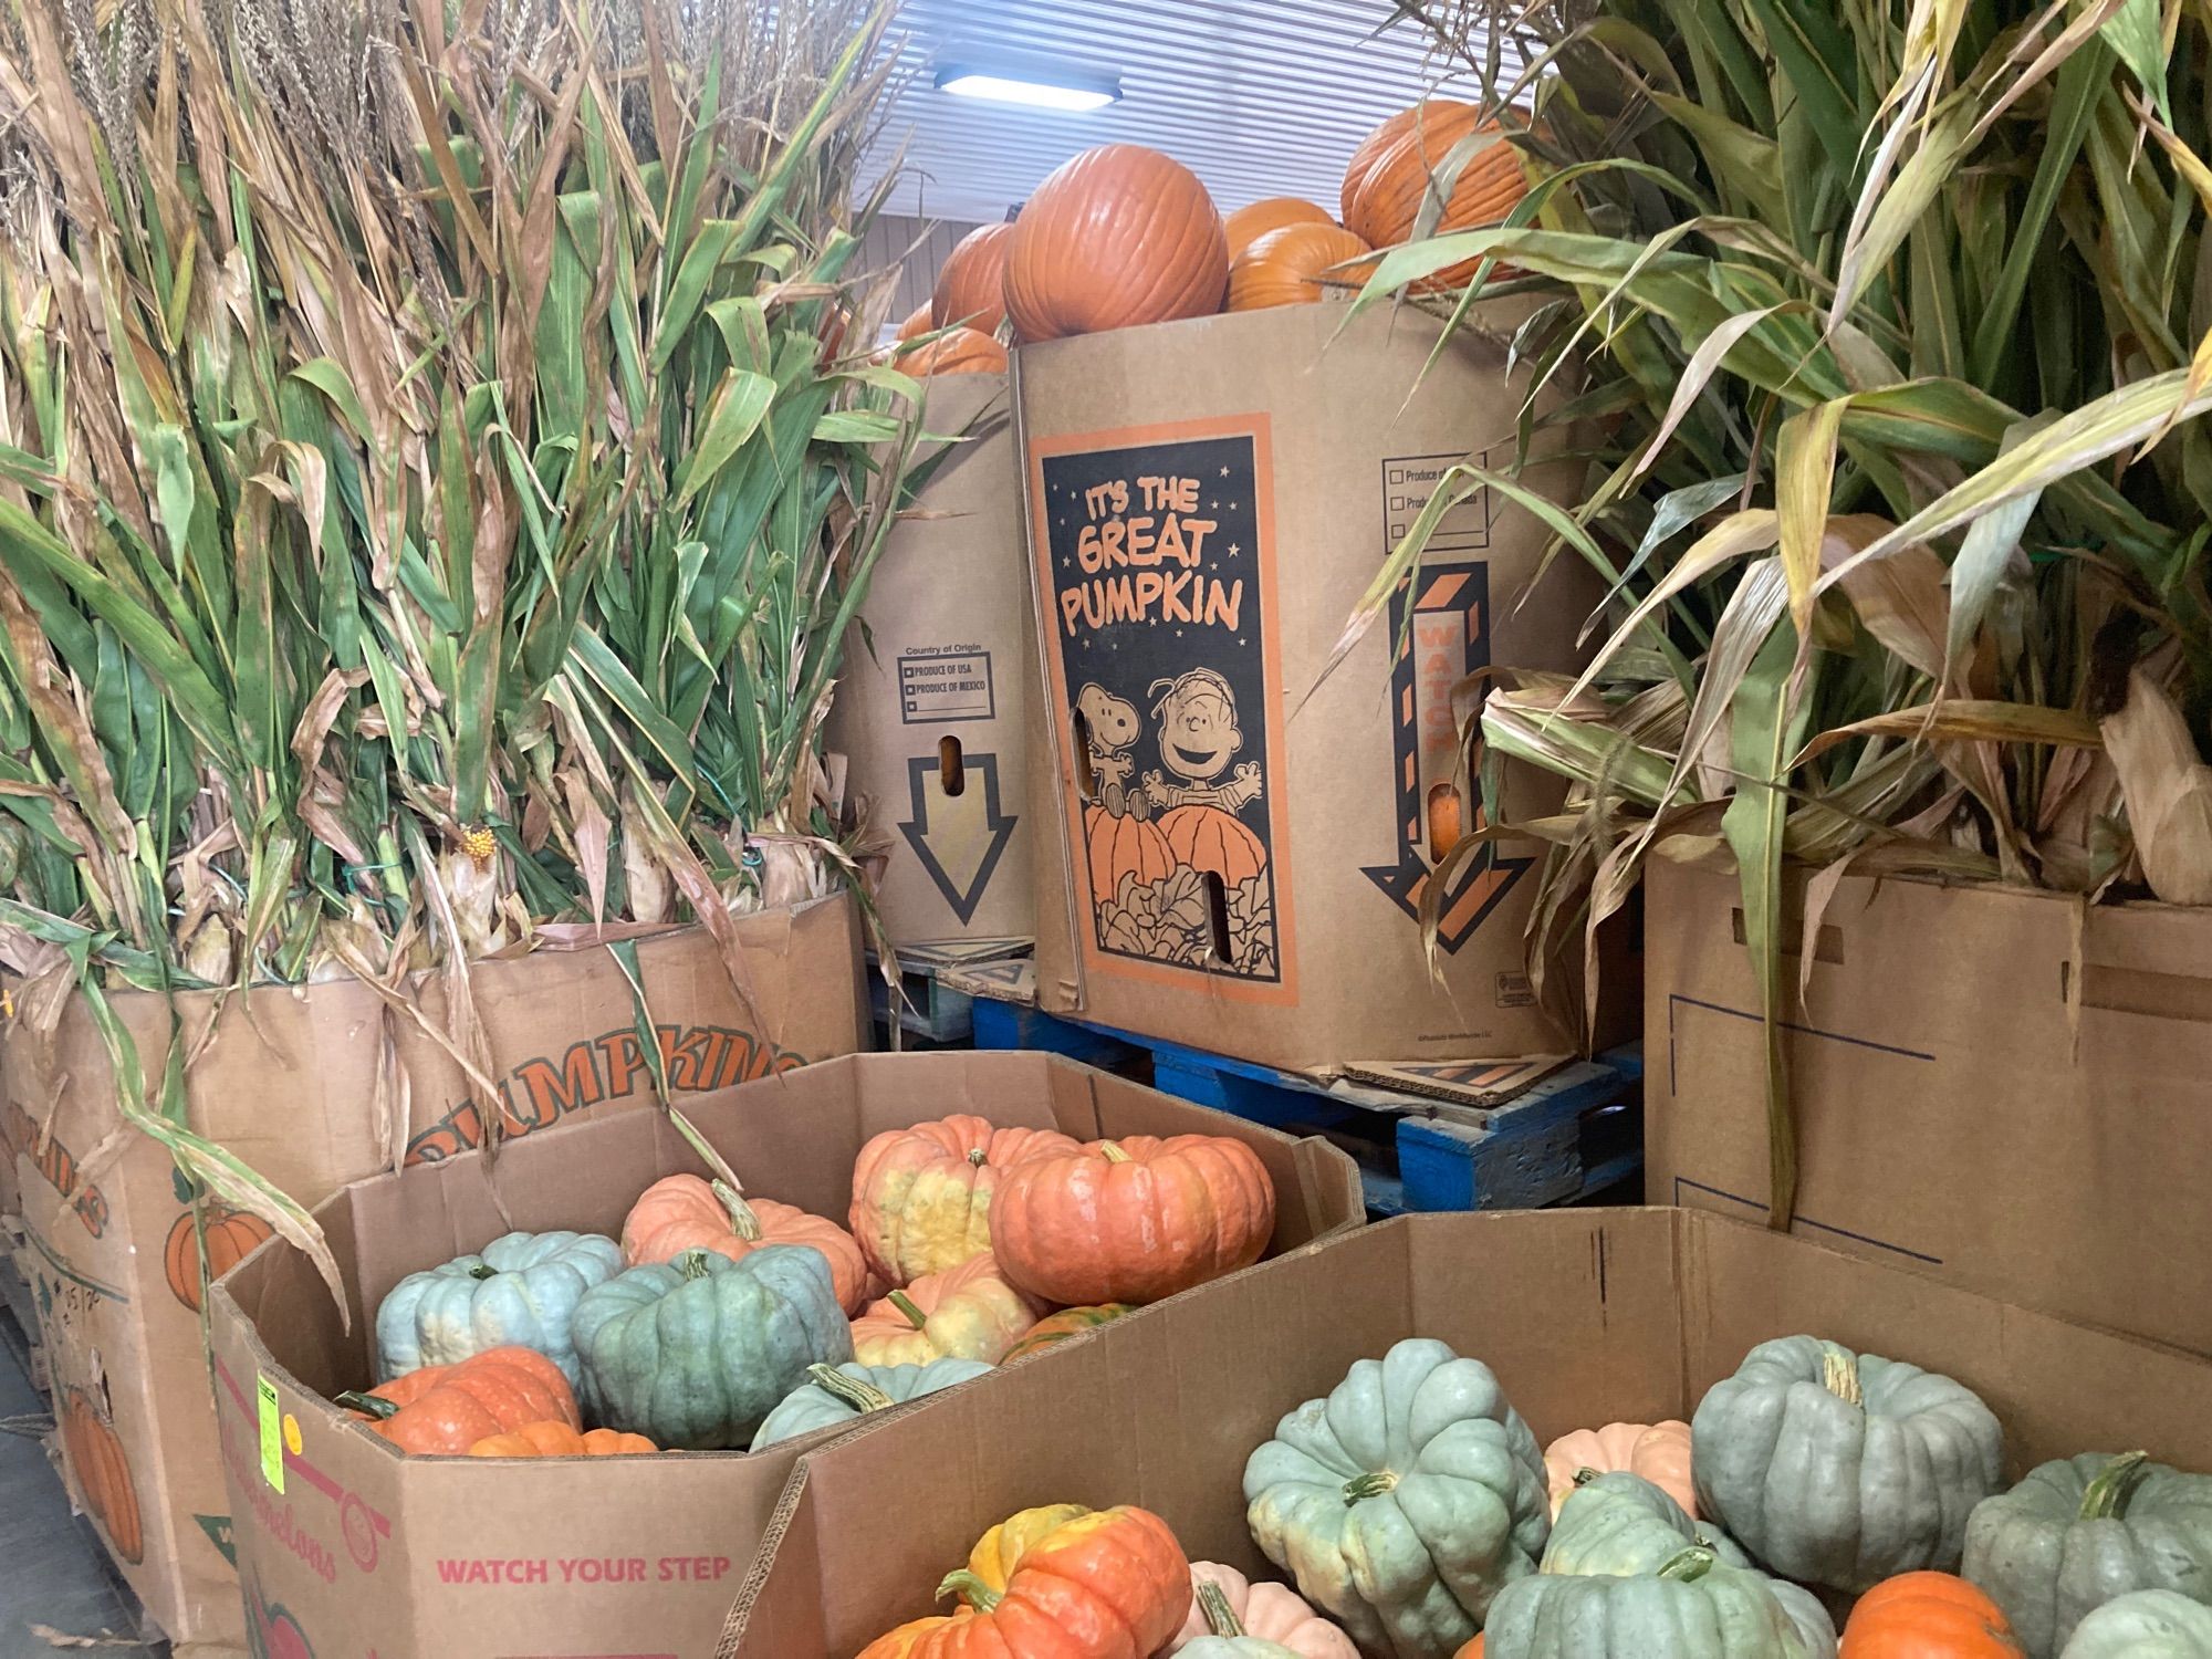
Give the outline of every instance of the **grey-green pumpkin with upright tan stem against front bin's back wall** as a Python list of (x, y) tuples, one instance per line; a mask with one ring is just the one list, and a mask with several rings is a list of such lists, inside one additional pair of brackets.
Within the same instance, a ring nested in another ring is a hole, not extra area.
[(1754, 1347), (1690, 1422), (1699, 1513), (1801, 1584), (1958, 1571), (2004, 1431), (1960, 1383), (1816, 1336)]

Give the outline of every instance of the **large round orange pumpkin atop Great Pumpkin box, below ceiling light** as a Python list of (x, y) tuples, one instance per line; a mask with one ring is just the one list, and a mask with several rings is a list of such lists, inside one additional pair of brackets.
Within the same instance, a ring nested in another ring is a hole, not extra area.
[(1199, 177), (1159, 150), (1104, 144), (1055, 168), (1015, 219), (1006, 316), (1024, 341), (1210, 316), (1228, 281)]

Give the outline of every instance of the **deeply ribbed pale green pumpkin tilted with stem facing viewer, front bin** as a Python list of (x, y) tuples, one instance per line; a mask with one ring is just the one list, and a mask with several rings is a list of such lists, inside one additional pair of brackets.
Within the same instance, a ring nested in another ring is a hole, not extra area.
[(1378, 1659), (1449, 1659), (1551, 1535), (1544, 1451), (1442, 1343), (1360, 1360), (1245, 1460), (1252, 1540)]

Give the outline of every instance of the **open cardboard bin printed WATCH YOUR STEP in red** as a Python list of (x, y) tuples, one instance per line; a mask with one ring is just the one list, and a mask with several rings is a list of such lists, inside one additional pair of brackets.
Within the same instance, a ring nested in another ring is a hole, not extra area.
[[(1365, 1219), (1358, 1170), (1325, 1141), (1048, 1055), (869, 1055), (686, 1106), (752, 1192), (827, 1217), (847, 1212), (852, 1164), (872, 1135), (947, 1113), (1077, 1137), (1234, 1135), (1274, 1177), (1272, 1252)], [(327, 1405), (367, 1380), (369, 1310), (400, 1276), (487, 1243), (509, 1221), (619, 1232), (648, 1183), (697, 1168), (661, 1113), (628, 1113), (524, 1141), (489, 1172), (462, 1157), (349, 1186), (319, 1212), (345, 1272), (349, 1334), (305, 1256), (283, 1243), (223, 1279), (212, 1318), (219, 1418), (250, 1604), (281, 1606), (321, 1655), (697, 1659), (712, 1648), (785, 1478), (818, 1440), (588, 1462), (403, 1458)], [(1115, 1332), (1018, 1369), (1053, 1376), (1064, 1354)], [(270, 1422), (285, 1436), (283, 1491), (263, 1478), (257, 1402), (268, 1391)], [(933, 1413), (949, 1398), (911, 1409)]]

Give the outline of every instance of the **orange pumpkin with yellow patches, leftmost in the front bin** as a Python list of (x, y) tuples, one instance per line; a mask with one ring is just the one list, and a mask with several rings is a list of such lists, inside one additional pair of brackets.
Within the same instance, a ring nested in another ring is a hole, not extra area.
[(1004, 1588), (960, 1571), (942, 1590), (958, 1590), (973, 1610), (902, 1624), (860, 1659), (1150, 1655), (1190, 1613), (1190, 1562), (1159, 1515), (1099, 1509), (1033, 1540)]

